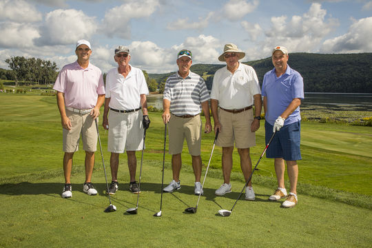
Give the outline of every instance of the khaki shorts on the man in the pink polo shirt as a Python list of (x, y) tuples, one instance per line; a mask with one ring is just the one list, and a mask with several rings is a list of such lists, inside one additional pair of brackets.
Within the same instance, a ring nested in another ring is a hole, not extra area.
[(83, 150), (96, 152), (98, 135), (96, 123), (90, 114), (77, 114), (66, 110), (66, 115), (70, 118), (72, 127), (71, 130), (63, 128), (63, 152), (79, 151), (80, 134)]

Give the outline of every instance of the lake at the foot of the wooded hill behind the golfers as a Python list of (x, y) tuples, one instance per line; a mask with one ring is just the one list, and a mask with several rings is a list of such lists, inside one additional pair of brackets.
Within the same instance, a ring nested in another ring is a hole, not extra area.
[[(163, 109), (163, 95), (153, 94), (147, 96), (147, 105)], [(337, 109), (352, 106), (358, 111), (372, 111), (372, 94), (356, 93), (305, 93), (302, 105), (320, 105)]]

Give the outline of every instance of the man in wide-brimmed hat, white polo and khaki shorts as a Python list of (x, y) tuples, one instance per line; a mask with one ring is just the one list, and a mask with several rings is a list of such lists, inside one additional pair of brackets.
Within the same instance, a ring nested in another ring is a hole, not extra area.
[[(256, 145), (255, 132), (260, 127), (262, 107), (261, 90), (256, 72), (249, 65), (239, 62), (244, 58), (242, 52), (232, 43), (226, 44), (219, 61), (226, 66), (214, 74), (211, 89), (211, 113), (214, 118), (214, 131), (220, 131), (216, 145), (223, 147), (222, 169), (224, 183), (215, 194), (223, 196), (231, 192), (230, 174), (233, 165), (234, 143), (240, 156), (240, 167), (245, 180), (252, 170), (249, 147)], [(255, 107), (253, 114), (252, 106)], [(254, 200), (251, 182), (245, 189), (245, 198)]]

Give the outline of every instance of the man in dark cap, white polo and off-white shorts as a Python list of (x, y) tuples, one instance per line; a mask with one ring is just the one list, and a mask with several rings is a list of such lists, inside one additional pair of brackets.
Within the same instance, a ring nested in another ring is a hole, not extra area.
[(106, 76), (103, 127), (109, 130), (107, 149), (111, 152), (112, 182), (109, 194), (115, 194), (118, 190), (119, 154), (124, 151), (127, 152), (130, 172), (129, 189), (134, 194), (140, 193), (136, 183), (136, 151), (142, 149), (143, 132), (150, 123), (146, 101), (149, 90), (142, 70), (130, 65), (130, 58), (129, 48), (119, 45), (114, 55), (118, 67), (112, 68)]

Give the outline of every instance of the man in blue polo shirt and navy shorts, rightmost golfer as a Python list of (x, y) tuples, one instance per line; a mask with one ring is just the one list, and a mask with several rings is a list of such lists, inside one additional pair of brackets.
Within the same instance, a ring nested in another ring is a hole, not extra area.
[[(297, 161), (300, 153), (300, 104), (304, 99), (304, 83), (300, 73), (287, 64), (288, 50), (277, 46), (272, 50), (272, 62), (275, 68), (267, 72), (262, 83), (263, 105), (265, 110), (265, 140), (277, 132), (267, 148), (267, 158), (274, 158), (278, 189), (269, 200), (287, 199), (281, 207), (294, 207), (297, 202)], [(285, 163), (291, 189), (285, 189)]]

